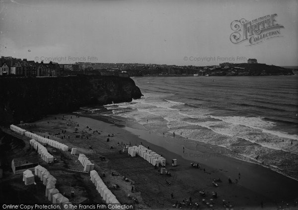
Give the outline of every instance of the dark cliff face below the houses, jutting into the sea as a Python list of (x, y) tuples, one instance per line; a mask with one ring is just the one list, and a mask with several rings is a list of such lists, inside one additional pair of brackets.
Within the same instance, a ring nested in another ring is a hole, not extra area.
[(80, 106), (129, 102), (142, 95), (131, 78), (116, 76), (2, 77), (0, 91), (1, 125), (31, 122)]

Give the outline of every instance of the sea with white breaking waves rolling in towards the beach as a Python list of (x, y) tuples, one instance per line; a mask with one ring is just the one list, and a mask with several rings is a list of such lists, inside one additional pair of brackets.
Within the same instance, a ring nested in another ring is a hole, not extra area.
[[(298, 174), (298, 75), (132, 77), (144, 96), (84, 107), (158, 135), (216, 145), (214, 152)], [(218, 151), (216, 151), (219, 148)], [(195, 148), (194, 148), (195, 149)]]

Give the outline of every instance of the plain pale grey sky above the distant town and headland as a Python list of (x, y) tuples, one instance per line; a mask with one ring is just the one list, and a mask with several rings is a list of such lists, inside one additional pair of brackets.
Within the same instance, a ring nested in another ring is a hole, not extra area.
[[(279, 37), (230, 41), (231, 22), (277, 14)], [(0, 56), (45, 63), (298, 66), (298, 0), (0, 0)]]

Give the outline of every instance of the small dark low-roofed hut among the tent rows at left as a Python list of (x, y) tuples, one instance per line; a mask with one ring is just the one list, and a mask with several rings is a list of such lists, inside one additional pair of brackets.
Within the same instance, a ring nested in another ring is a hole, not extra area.
[(27, 169), (34, 170), (34, 167), (38, 165), (38, 162), (37, 155), (18, 157), (11, 161), (11, 168), (14, 174), (20, 174)]

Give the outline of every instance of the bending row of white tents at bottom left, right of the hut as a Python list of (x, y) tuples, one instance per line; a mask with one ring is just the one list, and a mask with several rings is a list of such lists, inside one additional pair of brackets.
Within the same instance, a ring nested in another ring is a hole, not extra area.
[(57, 179), (50, 174), (50, 172), (38, 165), (34, 168), (34, 173), (37, 175), (43, 184), (46, 186), (46, 194), (45, 196), (48, 198), (50, 202), (53, 204), (59, 205), (61, 209), (64, 209), (64, 205), (72, 204), (68, 198), (64, 197), (59, 190), (56, 188)]

